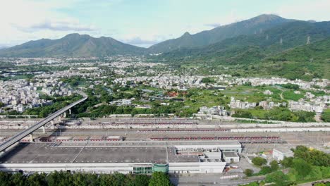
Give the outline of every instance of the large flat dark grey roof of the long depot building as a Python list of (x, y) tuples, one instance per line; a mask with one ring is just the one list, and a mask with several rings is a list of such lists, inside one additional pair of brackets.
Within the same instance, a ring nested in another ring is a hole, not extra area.
[(19, 144), (0, 163), (166, 163), (166, 147), (51, 147)]

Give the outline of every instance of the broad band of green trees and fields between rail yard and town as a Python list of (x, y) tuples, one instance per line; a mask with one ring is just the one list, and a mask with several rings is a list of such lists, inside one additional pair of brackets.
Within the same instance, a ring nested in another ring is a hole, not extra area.
[[(72, 77), (71, 79), (63, 79), (71, 87), (89, 87), (90, 84), (86, 79), (80, 77)], [(212, 78), (204, 78), (204, 82), (214, 82)], [(110, 80), (109, 80), (110, 82)], [(143, 92), (142, 89), (149, 89), (153, 92)], [(286, 102), (288, 99), (301, 98), (305, 94), (305, 90), (298, 89), (301, 93), (295, 94), (293, 92), (297, 87), (293, 85), (275, 85), (275, 86), (259, 86), (252, 87), (249, 85), (240, 85), (229, 87), (226, 90), (217, 89), (198, 89), (191, 88), (186, 91), (178, 91), (176, 89), (164, 91), (146, 85), (138, 85), (138, 87), (126, 87), (119, 85), (95, 85), (93, 88), (85, 89), (88, 99), (82, 104), (79, 104), (73, 109), (73, 117), (90, 117), (99, 118), (108, 116), (110, 114), (150, 114), (155, 116), (168, 116), (174, 114), (175, 116), (193, 116), (197, 113), (201, 106), (224, 106), (227, 111), (234, 111), (233, 117), (237, 118), (251, 118), (263, 120), (283, 120), (293, 122), (314, 122), (314, 112), (306, 111), (290, 111), (287, 107), (274, 107), (270, 110), (264, 110), (261, 106), (256, 106), (253, 109), (230, 109), (228, 104), (231, 97), (240, 99), (242, 101), (256, 102), (263, 100), (274, 102)], [(262, 92), (270, 90), (273, 94), (265, 95)], [(158, 94), (176, 93), (178, 99), (157, 99)], [(283, 94), (283, 97), (281, 96)], [(312, 92), (312, 94), (320, 96), (325, 92)], [(42, 99), (53, 101), (51, 105), (27, 109), (23, 114), (37, 115), (42, 118), (58, 109), (63, 108), (71, 102), (80, 99), (80, 96), (71, 97), (48, 97), (41, 96)], [(134, 99), (130, 106), (116, 106), (110, 104), (110, 101), (119, 99)], [(149, 109), (140, 109), (135, 105), (149, 106)], [(328, 111), (322, 115), (322, 119), (326, 120)], [(18, 115), (16, 111), (8, 111), (9, 115)], [(253, 120), (252, 120), (253, 121)], [(251, 122), (252, 122), (251, 121)], [(246, 122), (246, 121), (245, 121)]]

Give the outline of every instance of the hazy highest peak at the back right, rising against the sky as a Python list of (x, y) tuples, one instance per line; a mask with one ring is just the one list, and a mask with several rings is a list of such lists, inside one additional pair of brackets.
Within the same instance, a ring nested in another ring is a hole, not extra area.
[(243, 20), (238, 23), (215, 27), (212, 30), (199, 32), (190, 35), (185, 32), (184, 35), (176, 39), (169, 39), (159, 44), (149, 47), (149, 52), (159, 53), (164, 51), (172, 51), (181, 48), (194, 48), (207, 46), (224, 39), (237, 37), (239, 35), (256, 35), (268, 30), (271, 27), (282, 25), (283, 23), (292, 22), (294, 20), (281, 18), (272, 14), (262, 14), (249, 20)]

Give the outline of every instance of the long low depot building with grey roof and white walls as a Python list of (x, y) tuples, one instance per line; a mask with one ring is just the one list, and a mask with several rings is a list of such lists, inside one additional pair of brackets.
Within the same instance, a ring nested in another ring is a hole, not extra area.
[(0, 171), (221, 173), (241, 151), (238, 141), (21, 143), (2, 154)]

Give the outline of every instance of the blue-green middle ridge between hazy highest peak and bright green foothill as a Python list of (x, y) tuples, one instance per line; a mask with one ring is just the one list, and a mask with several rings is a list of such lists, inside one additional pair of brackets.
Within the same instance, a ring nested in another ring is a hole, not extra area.
[[(182, 48), (157, 56), (163, 61), (204, 61), (216, 64), (255, 63), (267, 56), (330, 37), (330, 22), (293, 21), (257, 35), (240, 35), (199, 48)], [(281, 42), (282, 41), (282, 42)]]

